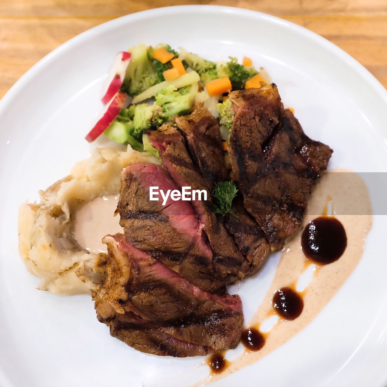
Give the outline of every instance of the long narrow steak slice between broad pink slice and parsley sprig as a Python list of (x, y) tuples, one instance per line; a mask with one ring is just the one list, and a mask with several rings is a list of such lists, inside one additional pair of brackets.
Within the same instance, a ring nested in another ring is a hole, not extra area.
[(241, 278), (244, 274), (245, 260), (235, 241), (228, 234), (220, 219), (212, 211), (210, 183), (203, 178), (194, 166), (185, 147), (183, 136), (170, 125), (149, 133), (149, 141), (160, 154), (164, 168), (180, 187), (207, 191), (207, 200), (192, 200), (195, 213), (202, 224), (214, 253), (216, 271), (227, 276), (234, 274)]

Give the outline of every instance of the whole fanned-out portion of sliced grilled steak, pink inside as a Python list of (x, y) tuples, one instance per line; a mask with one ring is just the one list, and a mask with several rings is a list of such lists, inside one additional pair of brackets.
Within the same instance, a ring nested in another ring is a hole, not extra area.
[[(224, 293), (225, 285), (256, 272), (300, 226), (331, 156), (283, 110), (274, 84), (234, 91), (230, 98), (237, 217), (212, 211), (214, 183), (229, 173), (219, 126), (206, 109), (175, 118), (185, 139), (168, 124), (149, 132), (163, 166), (135, 164), (122, 172), (116, 212), (125, 235), (103, 240), (108, 253), (100, 254), (103, 280), (94, 301), (110, 334), (142, 352), (203, 356), (238, 345), (241, 300)], [(163, 205), (149, 200), (151, 186), (164, 192), (188, 186), (204, 190), (209, 200), (169, 197)]]

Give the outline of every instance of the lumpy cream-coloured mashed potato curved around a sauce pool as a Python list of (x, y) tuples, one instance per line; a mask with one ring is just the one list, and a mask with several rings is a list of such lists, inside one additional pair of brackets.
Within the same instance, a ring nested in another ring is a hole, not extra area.
[(41, 277), (38, 289), (69, 295), (95, 288), (97, 255), (82, 249), (71, 235), (74, 213), (96, 197), (117, 194), (122, 168), (144, 161), (158, 162), (130, 147), (97, 148), (75, 164), (70, 175), (39, 191), (39, 204), (21, 205), (19, 253), (28, 271)]

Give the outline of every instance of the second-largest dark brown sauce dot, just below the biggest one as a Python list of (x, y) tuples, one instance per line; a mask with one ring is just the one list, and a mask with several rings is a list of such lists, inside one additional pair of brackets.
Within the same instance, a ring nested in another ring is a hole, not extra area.
[(281, 288), (274, 293), (274, 310), (285, 320), (294, 320), (302, 312), (304, 301), (291, 288)]

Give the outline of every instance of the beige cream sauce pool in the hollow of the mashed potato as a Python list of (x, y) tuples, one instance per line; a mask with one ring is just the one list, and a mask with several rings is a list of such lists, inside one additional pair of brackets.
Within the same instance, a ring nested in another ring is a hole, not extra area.
[(120, 216), (114, 216), (118, 195), (96, 197), (82, 205), (74, 215), (73, 237), (80, 247), (92, 253), (106, 253), (105, 235), (122, 233)]

